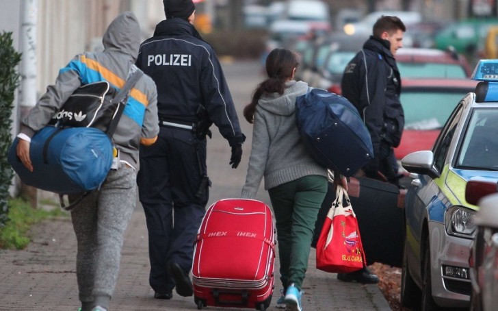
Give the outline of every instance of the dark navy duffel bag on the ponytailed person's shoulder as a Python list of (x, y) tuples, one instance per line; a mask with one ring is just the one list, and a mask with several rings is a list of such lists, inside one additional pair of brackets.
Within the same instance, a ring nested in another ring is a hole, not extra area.
[(296, 99), (296, 123), (311, 156), (322, 166), (352, 176), (374, 158), (370, 134), (344, 97), (313, 88)]

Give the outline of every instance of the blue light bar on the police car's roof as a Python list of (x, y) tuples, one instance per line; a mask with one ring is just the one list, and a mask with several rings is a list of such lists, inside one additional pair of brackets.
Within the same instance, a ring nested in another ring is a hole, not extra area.
[(475, 87), (475, 101), (498, 101), (498, 60), (480, 60), (471, 79), (481, 81)]

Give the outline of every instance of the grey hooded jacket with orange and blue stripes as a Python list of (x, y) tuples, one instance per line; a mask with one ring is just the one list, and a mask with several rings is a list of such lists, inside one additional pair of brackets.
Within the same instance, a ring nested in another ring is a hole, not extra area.
[[(140, 47), (140, 24), (135, 14), (124, 12), (114, 18), (102, 42), (103, 52), (79, 53), (59, 71), (55, 83), (47, 86), (47, 92), (23, 119), (21, 133), (33, 137), (82, 84), (107, 81), (116, 88), (124, 85)], [(143, 75), (133, 88), (143, 97), (131, 92), (112, 138), (121, 160), (138, 170), (140, 142), (155, 141), (159, 133), (157, 87), (152, 78)]]

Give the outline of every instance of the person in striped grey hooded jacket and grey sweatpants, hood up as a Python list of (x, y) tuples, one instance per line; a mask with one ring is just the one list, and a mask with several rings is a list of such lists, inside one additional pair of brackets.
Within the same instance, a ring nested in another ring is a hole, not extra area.
[[(134, 65), (140, 47), (140, 25), (135, 14), (124, 12), (117, 16), (103, 36), (103, 45), (101, 53), (76, 55), (23, 119), (16, 152), (30, 171), (34, 170), (29, 158), (31, 137), (51, 121), (74, 90), (99, 81), (107, 81), (119, 90), (127, 77), (139, 70)], [(143, 75), (131, 89), (114, 132), (120, 166), (109, 171), (101, 188), (86, 195), (71, 212), (83, 311), (109, 308), (119, 274), (124, 230), (135, 208), (138, 147), (153, 144), (158, 133), (157, 89), (153, 79)], [(70, 201), (74, 199), (70, 197)]]

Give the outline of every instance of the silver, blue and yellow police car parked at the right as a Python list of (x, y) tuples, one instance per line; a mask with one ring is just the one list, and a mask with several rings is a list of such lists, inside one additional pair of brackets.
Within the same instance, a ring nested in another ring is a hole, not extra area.
[(498, 180), (498, 61), (481, 60), (471, 78), (480, 82), (455, 103), (432, 150), (402, 159), (413, 178), (404, 206), (401, 300), (407, 307), (469, 306), (477, 206), (466, 201), (465, 188), (474, 179)]

